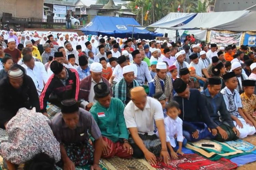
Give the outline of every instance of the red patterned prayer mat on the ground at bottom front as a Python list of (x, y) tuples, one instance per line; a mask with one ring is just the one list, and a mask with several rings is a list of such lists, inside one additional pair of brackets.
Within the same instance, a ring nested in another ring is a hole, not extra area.
[(226, 158), (212, 161), (198, 154), (184, 154), (179, 155), (178, 159), (171, 159), (168, 165), (158, 162), (154, 167), (158, 170), (229, 170), (237, 168), (237, 165)]

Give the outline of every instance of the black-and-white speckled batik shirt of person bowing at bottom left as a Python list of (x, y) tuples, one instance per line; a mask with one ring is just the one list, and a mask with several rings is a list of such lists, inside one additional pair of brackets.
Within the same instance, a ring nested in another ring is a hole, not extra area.
[(50, 128), (51, 121), (35, 108), (20, 108), (6, 125), (9, 142), (2, 142), (0, 155), (11, 163), (19, 165), (32, 159), (39, 153), (45, 153), (60, 160), (59, 142)]

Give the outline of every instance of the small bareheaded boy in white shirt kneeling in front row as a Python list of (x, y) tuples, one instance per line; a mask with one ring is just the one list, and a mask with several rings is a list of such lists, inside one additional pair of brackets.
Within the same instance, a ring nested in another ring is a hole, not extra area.
[[(180, 106), (176, 101), (171, 101), (166, 106), (167, 117), (165, 118), (166, 144), (173, 159), (178, 158), (178, 153), (183, 155), (182, 146), (187, 144), (187, 140), (182, 134), (182, 120), (178, 116), (181, 114)], [(158, 131), (156, 132), (158, 135)]]

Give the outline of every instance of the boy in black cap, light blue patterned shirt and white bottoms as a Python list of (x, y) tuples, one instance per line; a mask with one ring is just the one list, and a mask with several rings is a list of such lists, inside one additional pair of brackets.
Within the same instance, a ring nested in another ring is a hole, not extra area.
[(233, 123), (240, 132), (239, 138), (253, 135), (256, 132), (255, 127), (242, 111), (242, 101), (239, 92), (236, 90), (238, 86), (236, 74), (233, 71), (228, 72), (223, 75), (223, 79), (226, 87), (221, 90), (221, 93)]

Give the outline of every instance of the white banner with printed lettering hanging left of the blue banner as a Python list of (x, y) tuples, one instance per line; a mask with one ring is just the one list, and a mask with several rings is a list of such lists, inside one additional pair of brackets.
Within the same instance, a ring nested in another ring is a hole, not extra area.
[(210, 43), (215, 43), (219, 46), (228, 46), (230, 44), (240, 46), (242, 33), (221, 33), (211, 31)]

